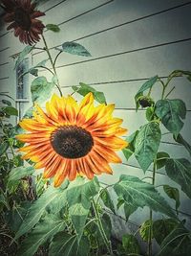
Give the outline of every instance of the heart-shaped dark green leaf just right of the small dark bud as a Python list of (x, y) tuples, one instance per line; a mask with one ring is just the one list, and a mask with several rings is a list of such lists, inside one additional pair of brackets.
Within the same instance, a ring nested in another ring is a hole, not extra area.
[(171, 131), (176, 137), (183, 127), (181, 119), (185, 118), (186, 106), (181, 100), (159, 100), (156, 103), (155, 112), (161, 123)]

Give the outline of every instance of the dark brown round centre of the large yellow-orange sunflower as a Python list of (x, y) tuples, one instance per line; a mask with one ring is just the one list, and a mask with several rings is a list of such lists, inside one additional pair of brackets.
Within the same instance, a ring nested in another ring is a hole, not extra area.
[(53, 150), (65, 158), (85, 156), (94, 146), (91, 133), (84, 128), (64, 126), (56, 128), (51, 134)]

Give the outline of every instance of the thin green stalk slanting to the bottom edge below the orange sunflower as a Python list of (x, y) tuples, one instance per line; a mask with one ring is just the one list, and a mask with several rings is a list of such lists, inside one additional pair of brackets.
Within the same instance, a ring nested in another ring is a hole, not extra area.
[(95, 215), (96, 215), (96, 220), (97, 220), (97, 225), (98, 225), (99, 232), (100, 232), (100, 234), (102, 236), (104, 244), (107, 247), (108, 252), (110, 253), (111, 256), (113, 256), (114, 253), (113, 253), (113, 250), (112, 250), (112, 245), (111, 245), (110, 241), (108, 241), (107, 236), (105, 234), (105, 231), (104, 231), (101, 219), (100, 219), (100, 215), (99, 215), (98, 209), (96, 207), (96, 200), (95, 200), (95, 198), (92, 199), (92, 203), (93, 203), (93, 208), (94, 208)]

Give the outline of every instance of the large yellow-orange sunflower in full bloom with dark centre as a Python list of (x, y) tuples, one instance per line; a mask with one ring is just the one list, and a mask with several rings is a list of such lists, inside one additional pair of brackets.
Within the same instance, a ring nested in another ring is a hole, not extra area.
[(66, 177), (76, 175), (92, 179), (102, 173), (112, 174), (109, 163), (121, 163), (116, 151), (127, 146), (117, 137), (126, 133), (120, 128), (122, 119), (112, 116), (115, 105), (94, 105), (92, 93), (80, 104), (72, 96), (67, 98), (53, 94), (46, 104), (46, 113), (35, 105), (32, 119), (23, 119), (21, 128), (30, 133), (16, 138), (28, 143), (21, 148), (36, 169), (44, 168), (44, 177), (54, 176), (54, 186)]

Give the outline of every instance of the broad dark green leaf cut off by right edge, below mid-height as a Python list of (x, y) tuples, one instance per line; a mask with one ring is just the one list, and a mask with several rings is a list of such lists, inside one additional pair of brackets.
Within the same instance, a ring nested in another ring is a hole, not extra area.
[(169, 159), (166, 162), (166, 174), (180, 184), (181, 190), (191, 198), (191, 163), (185, 159)]

